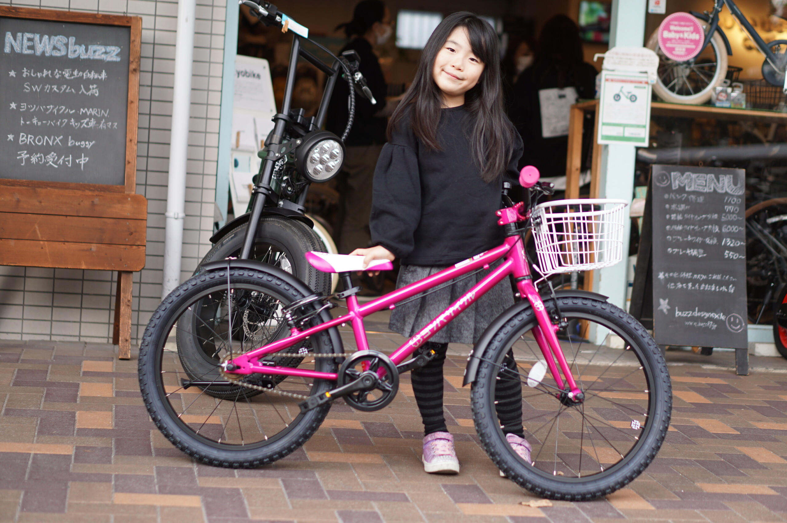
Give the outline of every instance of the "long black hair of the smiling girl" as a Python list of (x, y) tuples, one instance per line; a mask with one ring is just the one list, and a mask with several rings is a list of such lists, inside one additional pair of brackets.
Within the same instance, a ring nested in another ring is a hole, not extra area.
[(516, 131), (503, 109), (497, 34), (489, 22), (474, 13), (453, 13), (434, 29), (423, 48), (412, 86), (388, 123), (388, 139), (391, 139), (391, 131), (408, 114), (416, 138), (428, 150), (441, 150), (436, 131), (443, 98), (442, 91), (434, 83), (432, 68), (445, 40), (456, 28), (467, 31), (473, 53), (484, 64), (478, 83), (464, 94), (464, 104), (474, 122), (473, 128), (467, 130), (472, 157), (481, 171), (481, 179), (487, 183), (494, 182), (500, 179), (511, 160)]

